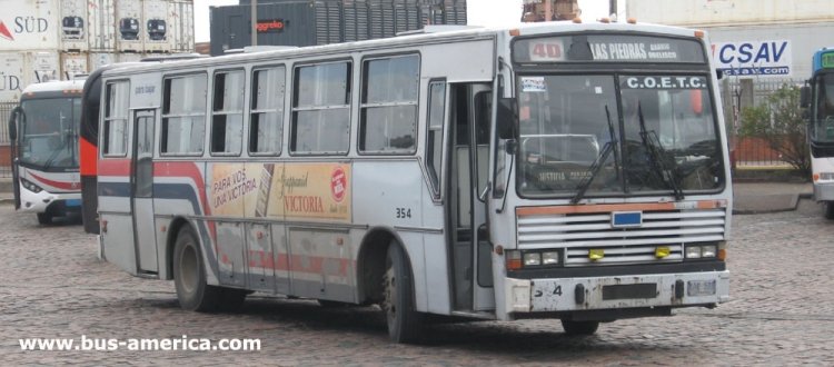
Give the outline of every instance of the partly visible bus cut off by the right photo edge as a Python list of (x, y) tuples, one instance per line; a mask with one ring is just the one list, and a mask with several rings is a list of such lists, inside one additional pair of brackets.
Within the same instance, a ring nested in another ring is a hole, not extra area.
[(834, 49), (814, 52), (813, 68), (802, 106), (808, 117), (814, 200), (825, 204), (825, 218), (834, 219)]

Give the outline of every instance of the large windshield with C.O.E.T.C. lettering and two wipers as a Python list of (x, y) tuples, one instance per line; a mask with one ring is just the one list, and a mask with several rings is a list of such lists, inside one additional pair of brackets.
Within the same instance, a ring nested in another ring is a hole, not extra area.
[(523, 197), (684, 195), (723, 184), (705, 75), (518, 78)]

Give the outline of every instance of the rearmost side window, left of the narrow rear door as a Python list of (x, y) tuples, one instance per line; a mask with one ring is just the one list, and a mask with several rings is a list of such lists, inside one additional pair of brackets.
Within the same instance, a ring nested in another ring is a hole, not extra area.
[(128, 152), (128, 110), (130, 82), (107, 83), (105, 100), (105, 133), (101, 152), (110, 157), (125, 157)]

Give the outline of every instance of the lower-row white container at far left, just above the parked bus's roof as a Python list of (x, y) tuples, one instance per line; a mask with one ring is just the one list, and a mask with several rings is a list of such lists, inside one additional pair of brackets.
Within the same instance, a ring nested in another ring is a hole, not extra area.
[(34, 82), (58, 80), (60, 63), (56, 51), (0, 52), (0, 101), (16, 101)]

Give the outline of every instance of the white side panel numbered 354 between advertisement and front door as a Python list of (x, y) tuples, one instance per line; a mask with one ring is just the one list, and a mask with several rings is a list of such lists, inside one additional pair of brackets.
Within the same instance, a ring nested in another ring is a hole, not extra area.
[[(440, 231), (443, 227), (437, 222), (430, 227), (424, 224), (423, 201), (430, 199), (419, 161), (356, 161), (353, 189), (355, 197), (361, 198), (354, 201), (354, 222), (394, 228), (404, 241), (401, 245), (414, 272), (417, 310), (428, 311), (428, 305), (433, 304), (448, 305), (445, 245), (443, 241), (427, 245), (434, 247), (430, 251), (423, 248), (423, 237), (427, 232)], [(443, 219), (443, 210), (438, 210), (437, 215)], [(425, 258), (424, 252), (434, 254), (434, 258)], [(429, 260), (443, 261), (443, 270), (426, 271)], [(429, 289), (433, 296), (440, 299), (430, 299)]]

